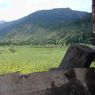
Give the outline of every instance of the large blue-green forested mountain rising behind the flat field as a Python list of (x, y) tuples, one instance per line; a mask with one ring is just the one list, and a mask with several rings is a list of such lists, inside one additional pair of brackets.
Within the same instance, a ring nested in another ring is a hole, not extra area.
[(11, 44), (89, 43), (91, 13), (57, 8), (0, 24), (0, 42)]

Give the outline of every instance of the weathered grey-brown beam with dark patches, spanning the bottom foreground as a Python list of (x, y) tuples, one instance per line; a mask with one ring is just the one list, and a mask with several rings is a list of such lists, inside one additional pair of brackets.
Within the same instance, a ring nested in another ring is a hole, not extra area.
[(95, 70), (1, 75), (0, 95), (95, 95)]

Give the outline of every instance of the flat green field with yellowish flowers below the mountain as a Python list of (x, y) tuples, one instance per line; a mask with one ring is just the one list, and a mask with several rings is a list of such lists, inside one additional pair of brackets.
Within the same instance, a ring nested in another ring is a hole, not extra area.
[(58, 67), (67, 47), (38, 48), (31, 46), (0, 47), (0, 74), (20, 71), (23, 74)]

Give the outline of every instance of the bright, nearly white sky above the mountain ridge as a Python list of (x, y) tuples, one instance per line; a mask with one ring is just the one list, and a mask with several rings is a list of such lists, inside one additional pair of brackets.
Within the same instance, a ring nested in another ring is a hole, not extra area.
[(92, 0), (0, 0), (0, 20), (12, 21), (37, 10), (71, 8), (91, 12)]

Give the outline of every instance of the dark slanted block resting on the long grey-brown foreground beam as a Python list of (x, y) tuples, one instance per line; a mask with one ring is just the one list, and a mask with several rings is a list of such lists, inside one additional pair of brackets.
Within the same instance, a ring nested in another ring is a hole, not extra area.
[(58, 68), (50, 71), (65, 70), (70, 68), (89, 68), (95, 59), (95, 49), (83, 45), (71, 45)]

